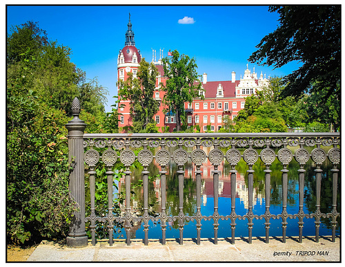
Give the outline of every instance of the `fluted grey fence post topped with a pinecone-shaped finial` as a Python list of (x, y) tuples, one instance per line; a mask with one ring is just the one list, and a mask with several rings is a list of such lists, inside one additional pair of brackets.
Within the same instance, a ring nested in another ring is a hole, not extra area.
[(83, 160), (83, 133), (86, 124), (79, 119), (80, 102), (75, 98), (72, 102), (72, 115), (74, 118), (68, 122), (68, 158), (72, 163), (69, 190), (78, 204), (78, 211), (74, 212), (70, 232), (67, 237), (67, 246), (83, 247), (88, 245), (85, 230), (85, 182)]

